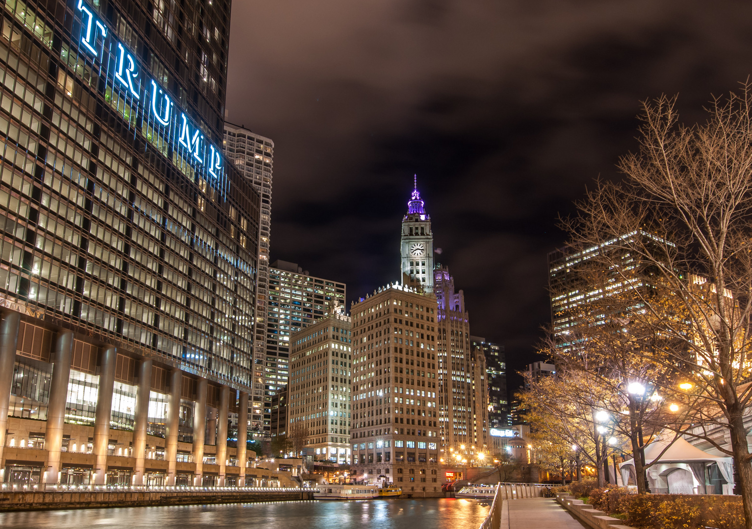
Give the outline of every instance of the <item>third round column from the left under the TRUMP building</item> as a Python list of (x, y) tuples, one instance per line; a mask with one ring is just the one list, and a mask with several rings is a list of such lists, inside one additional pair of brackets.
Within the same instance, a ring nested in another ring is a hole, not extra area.
[(116, 360), (117, 347), (107, 347), (99, 353), (99, 390), (96, 395), (96, 410), (94, 412), (95, 485), (105, 485), (107, 482), (107, 445), (110, 440)]

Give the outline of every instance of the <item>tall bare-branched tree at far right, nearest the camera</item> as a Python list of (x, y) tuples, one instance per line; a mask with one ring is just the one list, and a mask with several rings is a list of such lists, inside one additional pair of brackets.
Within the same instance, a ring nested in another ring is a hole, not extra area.
[[(656, 362), (676, 368), (705, 424), (725, 428), (731, 449), (702, 428), (675, 425), (732, 455), (737, 490), (752, 529), (752, 455), (744, 412), (750, 404), (752, 314), (752, 93), (715, 99), (704, 124), (678, 122), (675, 98), (645, 102), (640, 149), (624, 156), (624, 182), (599, 182), (566, 223), (575, 248), (599, 251), (602, 268), (620, 273), (614, 256), (629, 252), (652, 267), (661, 296), (644, 295), (641, 306), (663, 335), (681, 341)], [(669, 300), (667, 303), (666, 300)], [(647, 352), (636, 350), (646, 355)], [(687, 359), (690, 358), (690, 361)]]

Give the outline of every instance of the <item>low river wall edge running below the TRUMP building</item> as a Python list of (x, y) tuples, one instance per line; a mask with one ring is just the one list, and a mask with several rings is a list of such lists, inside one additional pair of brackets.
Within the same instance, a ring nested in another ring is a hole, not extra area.
[(312, 500), (313, 492), (2, 492), (0, 512)]

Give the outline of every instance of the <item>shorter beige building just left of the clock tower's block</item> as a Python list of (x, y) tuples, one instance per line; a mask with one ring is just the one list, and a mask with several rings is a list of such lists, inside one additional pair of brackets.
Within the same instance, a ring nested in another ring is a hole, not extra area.
[(287, 437), (316, 461), (350, 463), (351, 323), (343, 308), (291, 338)]

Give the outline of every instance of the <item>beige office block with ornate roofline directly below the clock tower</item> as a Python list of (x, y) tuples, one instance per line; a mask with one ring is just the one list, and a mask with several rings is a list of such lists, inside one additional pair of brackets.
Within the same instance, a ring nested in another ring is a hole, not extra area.
[(410, 493), (438, 483), (435, 297), (399, 284), (350, 308), (353, 317), (352, 475)]

